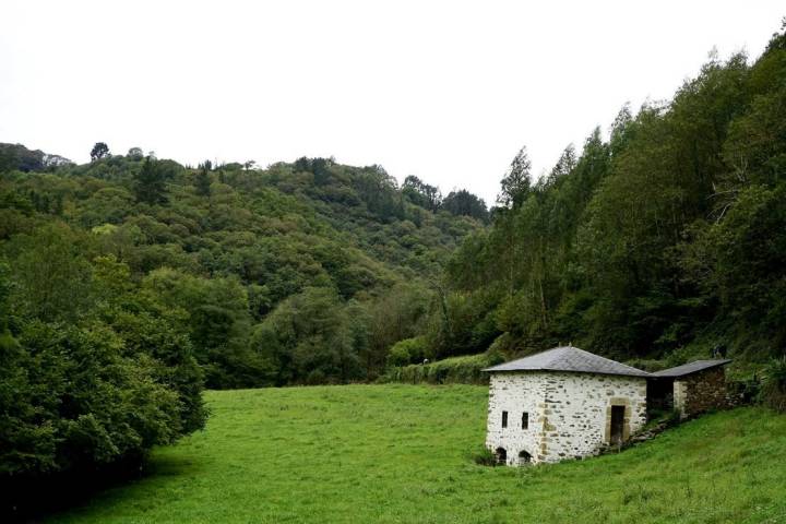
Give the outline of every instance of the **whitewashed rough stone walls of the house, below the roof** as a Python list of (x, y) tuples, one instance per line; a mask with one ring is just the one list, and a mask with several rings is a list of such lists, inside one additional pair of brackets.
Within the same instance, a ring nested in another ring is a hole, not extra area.
[[(646, 380), (570, 372), (491, 373), (486, 445), (492, 451), (503, 448), (510, 465), (519, 463), (522, 450), (533, 462), (591, 455), (609, 441), (612, 405), (626, 406), (628, 438), (646, 421)], [(521, 428), (522, 412), (529, 413), (527, 430)]]

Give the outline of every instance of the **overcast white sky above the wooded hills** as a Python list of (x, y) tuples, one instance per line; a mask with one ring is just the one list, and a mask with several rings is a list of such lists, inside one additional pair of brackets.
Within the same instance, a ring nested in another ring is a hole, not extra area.
[(781, 1), (0, 3), (0, 142), (186, 164), (335, 156), (490, 203), (716, 47), (761, 53)]

